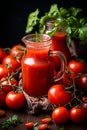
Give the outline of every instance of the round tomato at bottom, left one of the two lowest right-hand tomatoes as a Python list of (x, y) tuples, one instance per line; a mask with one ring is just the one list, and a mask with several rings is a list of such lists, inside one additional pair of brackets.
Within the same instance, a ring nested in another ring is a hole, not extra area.
[(52, 119), (59, 124), (64, 124), (69, 120), (69, 111), (65, 107), (57, 107), (52, 112)]

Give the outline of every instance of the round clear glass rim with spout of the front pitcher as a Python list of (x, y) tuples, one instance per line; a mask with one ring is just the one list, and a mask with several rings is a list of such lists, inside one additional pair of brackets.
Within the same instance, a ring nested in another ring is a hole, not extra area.
[(29, 47), (40, 48), (52, 44), (52, 38), (47, 34), (27, 34), (23, 36), (21, 40)]

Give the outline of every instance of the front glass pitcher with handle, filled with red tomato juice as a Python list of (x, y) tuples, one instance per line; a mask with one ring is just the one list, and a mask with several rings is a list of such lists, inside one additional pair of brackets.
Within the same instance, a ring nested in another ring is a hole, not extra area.
[[(22, 85), (30, 96), (47, 95), (53, 82), (62, 78), (66, 68), (66, 58), (58, 51), (52, 51), (52, 39), (46, 34), (29, 34), (22, 38), (26, 54), (22, 58)], [(54, 56), (61, 59), (61, 69), (55, 74)]]

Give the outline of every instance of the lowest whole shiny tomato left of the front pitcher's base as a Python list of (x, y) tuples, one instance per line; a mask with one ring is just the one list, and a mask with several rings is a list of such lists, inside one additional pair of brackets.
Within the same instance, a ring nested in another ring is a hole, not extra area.
[(19, 110), (25, 105), (25, 96), (23, 93), (9, 92), (6, 95), (6, 105), (13, 110)]

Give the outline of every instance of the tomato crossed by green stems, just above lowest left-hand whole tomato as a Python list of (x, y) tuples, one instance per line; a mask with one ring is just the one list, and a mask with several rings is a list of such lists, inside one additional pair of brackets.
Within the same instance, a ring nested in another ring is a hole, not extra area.
[(18, 86), (18, 81), (13, 77), (3, 77), (0, 80), (0, 86), (4, 94), (6, 95), (8, 92), (15, 90)]

